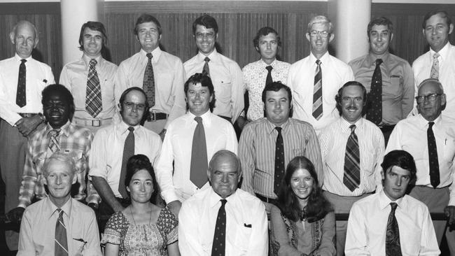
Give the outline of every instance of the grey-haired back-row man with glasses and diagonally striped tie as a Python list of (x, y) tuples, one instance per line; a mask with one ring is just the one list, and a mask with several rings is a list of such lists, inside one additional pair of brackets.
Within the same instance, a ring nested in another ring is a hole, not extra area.
[(306, 36), (311, 52), (290, 66), (287, 85), (293, 90), (293, 117), (309, 122), (319, 134), (339, 118), (335, 95), (354, 76), (347, 64), (328, 53), (335, 35), (327, 17), (312, 18)]

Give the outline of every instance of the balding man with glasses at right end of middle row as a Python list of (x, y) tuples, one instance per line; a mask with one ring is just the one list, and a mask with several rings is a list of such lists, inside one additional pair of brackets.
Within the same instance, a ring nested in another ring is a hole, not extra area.
[[(414, 157), (417, 180), (409, 195), (423, 201), (431, 212), (445, 213), (451, 225), (455, 222), (455, 127), (441, 115), (447, 103), (442, 88), (435, 78), (423, 80), (416, 97), (419, 115), (398, 122), (386, 152), (406, 150)], [(446, 222), (433, 221), (433, 225), (440, 244)]]

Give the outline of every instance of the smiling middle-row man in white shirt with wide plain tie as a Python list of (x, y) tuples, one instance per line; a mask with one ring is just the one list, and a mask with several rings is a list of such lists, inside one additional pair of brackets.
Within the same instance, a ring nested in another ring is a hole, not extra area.
[(195, 73), (184, 86), (188, 113), (174, 120), (163, 141), (156, 178), (169, 209), (178, 214), (181, 201), (207, 183), (207, 162), (218, 150), (237, 153), (237, 136), (227, 120), (211, 113), (214, 85), (205, 73)]

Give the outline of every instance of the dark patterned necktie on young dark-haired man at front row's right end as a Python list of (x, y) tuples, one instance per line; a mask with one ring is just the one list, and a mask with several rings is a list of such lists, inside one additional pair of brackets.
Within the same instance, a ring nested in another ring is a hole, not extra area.
[(386, 256), (401, 256), (400, 229), (395, 218), (395, 210), (398, 204), (390, 203), (391, 211), (388, 215), (386, 230)]

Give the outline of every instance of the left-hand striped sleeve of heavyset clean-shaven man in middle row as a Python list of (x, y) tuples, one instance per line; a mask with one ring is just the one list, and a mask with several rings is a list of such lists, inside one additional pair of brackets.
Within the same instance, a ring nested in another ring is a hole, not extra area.
[(255, 170), (255, 149), (253, 141), (253, 124), (246, 125), (242, 131), (239, 141), (239, 158), (241, 162), (241, 172), (244, 180), (241, 189), (250, 194), (254, 194), (253, 176)]

